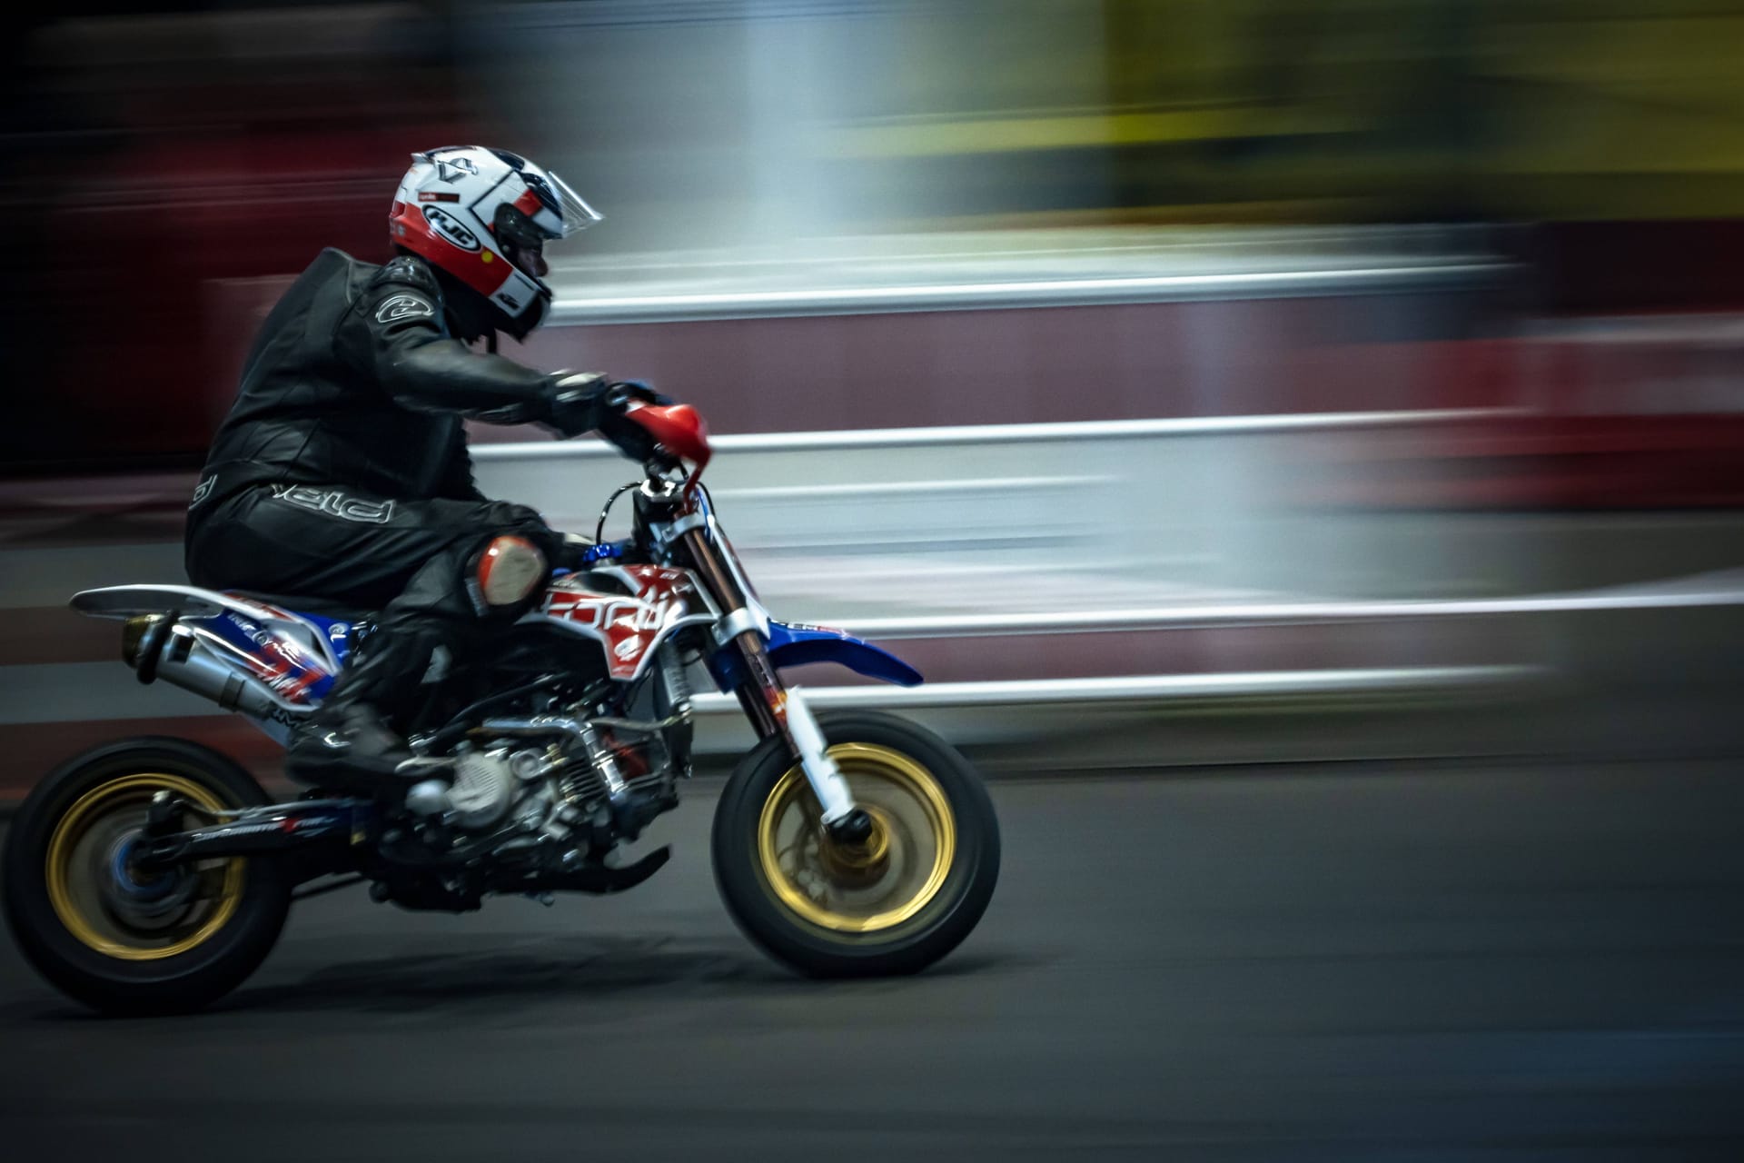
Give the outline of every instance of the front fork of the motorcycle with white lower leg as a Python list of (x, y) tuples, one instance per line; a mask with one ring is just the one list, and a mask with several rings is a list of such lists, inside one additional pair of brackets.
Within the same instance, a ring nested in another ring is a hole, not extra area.
[(780, 736), (787, 739), (788, 750), (799, 758), (806, 781), (823, 807), (823, 826), (830, 832), (830, 839), (842, 844), (863, 842), (872, 835), (872, 818), (855, 804), (848, 779), (830, 758), (828, 743), (823, 739), (823, 731), (811, 708), (806, 706), (804, 696), (797, 687), (785, 687), (781, 677), (774, 673), (774, 664), (769, 661), (769, 642), (752, 612), (750, 598), (732, 572), (722, 565), (720, 554), (715, 553), (701, 527), (685, 530), (680, 541), (703, 582), (729, 610), (720, 621), (720, 628), (729, 636), (722, 647), (738, 656), (739, 685), (736, 694), (739, 706), (752, 720), (752, 727), (757, 729), (757, 738)]

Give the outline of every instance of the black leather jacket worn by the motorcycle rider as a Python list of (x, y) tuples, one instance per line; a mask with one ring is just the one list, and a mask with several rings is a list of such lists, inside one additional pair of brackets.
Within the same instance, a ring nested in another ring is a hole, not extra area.
[(481, 499), (462, 418), (546, 417), (555, 377), (453, 338), (431, 267), (326, 249), (267, 316), (218, 429), (190, 520), (251, 485), (349, 485)]

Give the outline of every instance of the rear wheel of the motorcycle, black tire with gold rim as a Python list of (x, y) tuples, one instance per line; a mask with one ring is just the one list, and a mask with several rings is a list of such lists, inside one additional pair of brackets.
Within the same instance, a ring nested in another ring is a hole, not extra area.
[(270, 860), (133, 868), (157, 792), (204, 811), (270, 802), (211, 748), (124, 739), (37, 785), (7, 839), (12, 938), (51, 985), (101, 1013), (181, 1013), (221, 997), (260, 966), (290, 910), (291, 884)]

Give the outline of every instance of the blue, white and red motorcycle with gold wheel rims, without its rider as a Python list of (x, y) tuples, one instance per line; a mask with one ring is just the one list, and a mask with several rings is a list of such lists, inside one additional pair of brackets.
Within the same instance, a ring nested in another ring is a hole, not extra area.
[[(293, 900), (368, 884), (377, 901), (467, 912), (490, 894), (619, 893), (624, 863), (692, 769), (692, 675), (734, 694), (759, 743), (715, 809), (715, 882), (743, 933), (811, 976), (914, 973), (992, 896), (999, 828), (949, 743), (882, 713), (816, 715), (781, 673), (835, 663), (914, 685), (902, 659), (762, 607), (701, 483), (708, 431), (685, 405), (619, 401), (652, 441), (591, 546), (467, 666), (426, 675), (403, 802), (321, 790), (272, 802), (188, 739), (98, 746), (23, 804), (5, 914), (58, 989), (105, 1013), (204, 1006), (265, 959)], [(631, 535), (602, 541), (631, 493)], [(122, 659), (284, 743), (370, 616), (310, 598), (192, 586), (87, 589), (122, 621)], [(434, 668), (433, 668), (434, 670)]]

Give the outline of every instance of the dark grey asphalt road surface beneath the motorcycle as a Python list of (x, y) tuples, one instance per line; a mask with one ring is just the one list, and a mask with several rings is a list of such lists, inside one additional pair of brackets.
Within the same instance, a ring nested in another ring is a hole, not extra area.
[(0, 1158), (1739, 1160), (1744, 764), (1001, 781), (982, 928), (811, 983), (708, 872), (300, 905), (192, 1018), (0, 949)]

